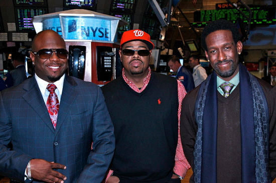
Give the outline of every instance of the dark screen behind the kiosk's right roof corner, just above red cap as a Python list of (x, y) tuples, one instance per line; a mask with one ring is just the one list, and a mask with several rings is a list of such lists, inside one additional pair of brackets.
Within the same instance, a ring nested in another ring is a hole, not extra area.
[(133, 14), (119, 12), (110, 12), (109, 14), (112, 16), (120, 17), (129, 23), (128, 25), (118, 27), (118, 38), (121, 38), (124, 31), (131, 30), (133, 28)]

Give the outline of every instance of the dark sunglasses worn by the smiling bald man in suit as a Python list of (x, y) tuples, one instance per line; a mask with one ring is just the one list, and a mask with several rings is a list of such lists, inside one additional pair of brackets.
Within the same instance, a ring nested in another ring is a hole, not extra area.
[(42, 59), (50, 58), (54, 52), (56, 52), (57, 56), (61, 59), (65, 59), (68, 56), (68, 51), (66, 49), (40, 49), (38, 52), (33, 52), (37, 54), (38, 57)]

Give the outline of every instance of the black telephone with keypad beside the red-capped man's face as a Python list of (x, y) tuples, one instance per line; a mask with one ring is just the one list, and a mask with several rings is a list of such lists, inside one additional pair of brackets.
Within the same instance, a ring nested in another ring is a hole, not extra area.
[(98, 81), (110, 81), (112, 79), (114, 55), (110, 46), (96, 47)]

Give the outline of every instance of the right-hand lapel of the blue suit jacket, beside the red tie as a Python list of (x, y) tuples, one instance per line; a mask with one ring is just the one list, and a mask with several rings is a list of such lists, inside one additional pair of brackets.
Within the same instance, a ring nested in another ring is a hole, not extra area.
[(75, 89), (76, 85), (77, 83), (72, 77), (65, 75), (55, 130), (56, 134), (60, 130), (73, 102), (78, 95), (78, 91)]

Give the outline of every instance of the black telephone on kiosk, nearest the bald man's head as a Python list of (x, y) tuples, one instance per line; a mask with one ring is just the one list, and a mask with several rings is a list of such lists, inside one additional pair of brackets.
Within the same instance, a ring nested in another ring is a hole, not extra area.
[(86, 46), (69, 45), (69, 75), (84, 79)]

